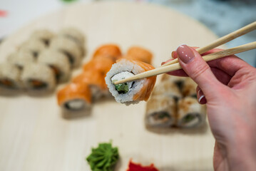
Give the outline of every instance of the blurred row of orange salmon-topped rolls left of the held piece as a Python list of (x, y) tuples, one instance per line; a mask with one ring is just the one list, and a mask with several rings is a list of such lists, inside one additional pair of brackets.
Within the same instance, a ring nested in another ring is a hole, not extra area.
[(91, 108), (91, 103), (108, 96), (104, 78), (121, 55), (120, 48), (115, 44), (97, 48), (91, 61), (83, 65), (83, 72), (58, 91), (58, 105), (64, 111), (86, 110)]

